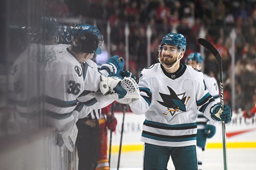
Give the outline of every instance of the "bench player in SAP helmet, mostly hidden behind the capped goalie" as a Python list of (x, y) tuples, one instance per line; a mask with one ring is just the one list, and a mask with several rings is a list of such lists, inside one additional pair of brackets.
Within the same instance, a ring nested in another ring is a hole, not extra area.
[[(100, 54), (101, 49), (100, 46), (103, 45), (104, 39), (103, 36), (100, 34), (100, 30), (96, 26), (92, 26), (89, 24), (77, 24), (71, 31), (71, 41), (74, 40), (79, 33), (86, 33), (90, 32), (93, 33), (98, 37), (99, 40), (99, 47), (96, 50), (95, 54)], [(98, 65), (93, 62), (91, 59), (87, 60), (83, 63), (84, 72), (86, 72), (86, 76), (84, 74), (84, 92), (77, 98), (77, 100), (81, 101), (86, 107), (91, 109), (99, 109), (108, 106), (114, 100), (118, 100), (118, 98), (112, 98), (109, 95), (102, 96), (100, 93), (95, 93), (99, 91), (99, 83), (102, 80), (102, 76), (108, 77), (111, 73), (112, 76), (122, 77), (119, 73), (124, 68), (124, 59), (120, 58), (118, 55), (112, 56), (108, 59), (108, 61), (102, 65), (101, 70), (98, 71)], [(92, 76), (93, 75), (93, 76)], [(124, 77), (124, 75), (122, 75)], [(127, 76), (128, 77), (128, 76)], [(104, 98), (104, 99), (103, 99)], [(91, 110), (92, 111), (92, 110)], [(86, 113), (90, 113), (91, 111), (87, 111)], [(81, 115), (85, 117), (86, 115)], [(80, 117), (81, 117), (80, 116)], [(79, 117), (79, 118), (80, 118)], [(82, 118), (81, 117), (81, 118)]]

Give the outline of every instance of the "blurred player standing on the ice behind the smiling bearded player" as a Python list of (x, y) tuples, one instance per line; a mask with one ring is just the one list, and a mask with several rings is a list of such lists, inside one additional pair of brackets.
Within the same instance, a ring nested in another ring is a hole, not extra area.
[[(203, 57), (200, 53), (190, 53), (186, 59), (186, 64), (192, 66), (197, 70), (201, 70), (203, 65)], [(204, 74), (204, 83), (215, 99), (217, 103), (220, 103), (220, 94), (219, 94), (219, 87), (217, 81), (214, 77), (210, 77), (207, 74)], [(203, 158), (203, 151), (206, 145), (206, 139), (211, 138), (216, 133), (216, 121), (210, 121), (207, 119), (203, 113), (198, 112), (197, 115), (197, 133), (196, 133), (196, 153), (198, 159), (198, 169), (202, 170), (202, 158)]]

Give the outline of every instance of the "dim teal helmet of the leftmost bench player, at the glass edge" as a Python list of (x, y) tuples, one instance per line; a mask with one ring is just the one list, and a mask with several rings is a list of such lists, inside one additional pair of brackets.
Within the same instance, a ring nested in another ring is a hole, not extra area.
[(45, 18), (45, 39), (59, 41), (59, 24), (55, 17)]

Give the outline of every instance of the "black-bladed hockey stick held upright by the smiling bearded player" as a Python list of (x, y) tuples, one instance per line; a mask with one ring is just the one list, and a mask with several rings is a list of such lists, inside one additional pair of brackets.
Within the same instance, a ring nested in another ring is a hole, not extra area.
[[(212, 44), (203, 38), (198, 39), (198, 43), (207, 48), (217, 59), (219, 70), (220, 70), (220, 102), (221, 109), (224, 107), (224, 95), (223, 95), (223, 74), (222, 74), (222, 58), (218, 50), (212, 46)], [(228, 160), (227, 160), (227, 139), (226, 139), (226, 125), (225, 122), (221, 122), (222, 126), (222, 144), (223, 144), (223, 160), (224, 160), (224, 170), (228, 169)]]

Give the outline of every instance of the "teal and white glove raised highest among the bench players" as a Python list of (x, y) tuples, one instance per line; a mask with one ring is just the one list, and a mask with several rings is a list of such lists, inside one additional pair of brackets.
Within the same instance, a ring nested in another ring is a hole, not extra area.
[(118, 55), (114, 55), (110, 57), (107, 63), (101, 65), (100, 70), (106, 69), (108, 73), (119, 74), (124, 69), (124, 59), (119, 57)]

